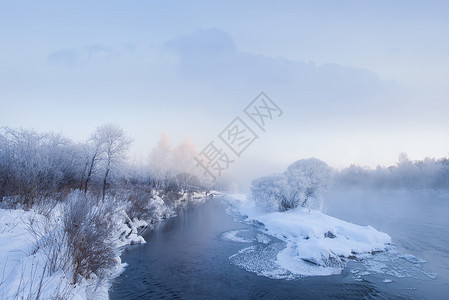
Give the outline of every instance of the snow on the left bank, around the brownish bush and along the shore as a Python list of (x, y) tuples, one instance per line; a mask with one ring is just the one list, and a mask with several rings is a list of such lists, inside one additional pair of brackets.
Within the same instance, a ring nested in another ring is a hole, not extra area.
[[(189, 201), (203, 202), (205, 194), (196, 193), (192, 199), (181, 198), (175, 201), (175, 205)], [(72, 283), (71, 258), (63, 249), (62, 238), (58, 240), (62, 228), (62, 205), (55, 207), (47, 217), (33, 209), (0, 209), (0, 299), (108, 299), (110, 281), (126, 267), (121, 263), (121, 249), (129, 244), (145, 243), (140, 235), (145, 228), (175, 215), (174, 208), (167, 206), (157, 195), (153, 195), (149, 205), (153, 215), (148, 222), (129, 220), (124, 212), (116, 214), (115, 267), (107, 270), (102, 280), (94, 274), (77, 284)], [(55, 250), (52, 245), (61, 246), (56, 260), (58, 266), (65, 260), (65, 268), (52, 270), (50, 264), (56, 265), (56, 261), (48, 259), (54, 256), (50, 253)]]

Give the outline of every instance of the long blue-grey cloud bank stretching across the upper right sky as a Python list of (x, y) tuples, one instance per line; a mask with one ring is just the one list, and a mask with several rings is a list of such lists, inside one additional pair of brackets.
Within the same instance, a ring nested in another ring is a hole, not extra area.
[(177, 56), (182, 78), (226, 90), (284, 90), (315, 104), (335, 105), (372, 99), (392, 87), (362, 68), (239, 51), (233, 39), (216, 28), (171, 40), (165, 48)]

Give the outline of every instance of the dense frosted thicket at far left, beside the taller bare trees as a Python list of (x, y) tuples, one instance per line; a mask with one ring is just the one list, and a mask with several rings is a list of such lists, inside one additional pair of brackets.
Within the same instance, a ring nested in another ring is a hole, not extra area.
[(79, 182), (79, 153), (60, 134), (1, 128), (0, 136), (2, 195), (29, 208), (36, 198), (55, 196)]

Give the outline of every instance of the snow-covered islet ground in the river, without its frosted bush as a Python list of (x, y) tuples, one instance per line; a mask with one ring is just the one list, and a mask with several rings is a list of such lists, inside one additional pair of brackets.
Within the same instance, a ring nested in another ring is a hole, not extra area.
[[(317, 210), (298, 207), (287, 212), (266, 213), (258, 210), (246, 195), (229, 195), (226, 200), (236, 212), (247, 216), (246, 222), (285, 243), (274, 258), (278, 270), (265, 272), (270, 277), (338, 274), (348, 259), (384, 251), (391, 243), (386, 233), (371, 226), (351, 224)], [(244, 253), (254, 255), (254, 249), (244, 249), (240, 254)], [(240, 255), (239, 260), (242, 259)]]

